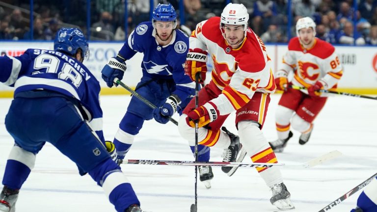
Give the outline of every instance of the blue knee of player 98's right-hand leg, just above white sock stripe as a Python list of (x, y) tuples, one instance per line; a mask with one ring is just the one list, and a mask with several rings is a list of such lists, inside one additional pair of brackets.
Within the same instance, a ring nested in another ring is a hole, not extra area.
[(98, 185), (102, 186), (108, 175), (113, 172), (121, 172), (120, 167), (111, 158), (108, 158), (89, 170), (88, 174)]

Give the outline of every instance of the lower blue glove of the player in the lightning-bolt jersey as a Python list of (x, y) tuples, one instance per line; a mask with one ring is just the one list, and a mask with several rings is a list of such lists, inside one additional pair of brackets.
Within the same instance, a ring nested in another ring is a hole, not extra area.
[(177, 112), (177, 106), (181, 103), (181, 100), (177, 95), (171, 95), (167, 98), (166, 102), (158, 108), (153, 110), (153, 117), (161, 124), (166, 124), (175, 112)]

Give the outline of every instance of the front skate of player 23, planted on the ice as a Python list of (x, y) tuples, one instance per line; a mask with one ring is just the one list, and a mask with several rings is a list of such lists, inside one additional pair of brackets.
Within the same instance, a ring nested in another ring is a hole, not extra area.
[(272, 205), (276, 206), (279, 210), (287, 211), (295, 209), (291, 202), (291, 194), (287, 190), (284, 183), (275, 184), (271, 187), (272, 197), (269, 199)]

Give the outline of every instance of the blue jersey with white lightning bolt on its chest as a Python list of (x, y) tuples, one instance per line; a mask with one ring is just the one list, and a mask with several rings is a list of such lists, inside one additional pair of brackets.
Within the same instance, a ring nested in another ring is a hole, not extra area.
[[(185, 75), (184, 65), (188, 53), (188, 36), (181, 30), (173, 30), (172, 40), (166, 46), (156, 41), (156, 29), (152, 22), (142, 22), (130, 34), (128, 42), (119, 51), (126, 60), (135, 53), (144, 53), (141, 69), (143, 76), (153, 79), (173, 79), (176, 83), (176, 94), (186, 104), (192, 98), (195, 83)], [(186, 105), (181, 105), (184, 107)]]

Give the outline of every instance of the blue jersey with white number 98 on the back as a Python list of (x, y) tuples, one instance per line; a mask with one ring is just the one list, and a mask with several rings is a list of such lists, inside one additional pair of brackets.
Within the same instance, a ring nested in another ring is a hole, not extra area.
[(56, 51), (28, 49), (21, 56), (0, 56), (0, 64), (0, 81), (15, 87), (15, 94), (46, 89), (77, 99), (90, 126), (105, 141), (100, 83), (80, 61)]

